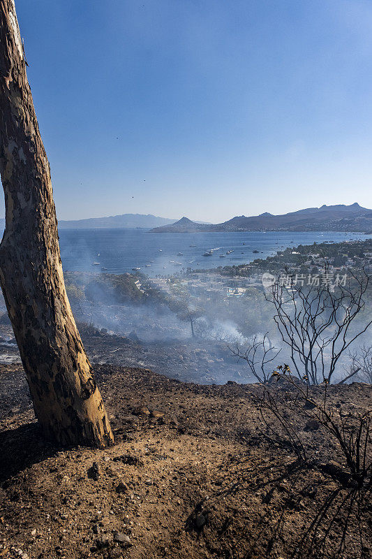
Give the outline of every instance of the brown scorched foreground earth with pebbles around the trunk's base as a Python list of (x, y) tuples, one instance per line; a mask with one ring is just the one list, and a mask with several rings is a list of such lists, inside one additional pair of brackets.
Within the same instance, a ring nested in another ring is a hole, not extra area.
[[(286, 407), (292, 386), (272, 390), (306, 460), (262, 423), (260, 386), (95, 371), (116, 444), (59, 449), (38, 433), (21, 366), (0, 365), (0, 557), (371, 559), (369, 495), (324, 428)], [(356, 416), (371, 387), (329, 387), (329, 406)]]

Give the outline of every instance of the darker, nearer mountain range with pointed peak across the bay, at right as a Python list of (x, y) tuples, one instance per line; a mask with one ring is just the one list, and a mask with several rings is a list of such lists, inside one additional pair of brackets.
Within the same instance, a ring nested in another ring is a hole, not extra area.
[(372, 232), (372, 210), (358, 203), (322, 205), (283, 215), (232, 217), (220, 224), (197, 224), (182, 217), (172, 225), (153, 228), (152, 233), (195, 233), (199, 231), (361, 231)]

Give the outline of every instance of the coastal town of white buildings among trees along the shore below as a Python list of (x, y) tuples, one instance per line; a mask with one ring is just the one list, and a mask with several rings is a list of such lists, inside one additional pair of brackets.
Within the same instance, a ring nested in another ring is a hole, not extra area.
[(269, 274), (281, 284), (311, 285), (328, 282), (345, 284), (348, 270), (372, 273), (372, 240), (300, 245), (279, 251), (267, 259), (255, 259), (240, 266), (220, 266), (210, 270), (180, 270), (166, 277), (149, 279), (149, 284), (167, 296), (187, 292), (191, 298), (208, 301), (244, 296), (249, 290), (264, 291)]

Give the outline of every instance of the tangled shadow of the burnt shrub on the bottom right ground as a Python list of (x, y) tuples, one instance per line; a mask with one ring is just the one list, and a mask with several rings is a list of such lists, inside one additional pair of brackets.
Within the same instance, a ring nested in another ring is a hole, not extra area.
[[(235, 470), (234, 465), (239, 469)], [(216, 470), (222, 469), (222, 465), (216, 467)], [(185, 529), (194, 532), (196, 537), (200, 537), (204, 528), (198, 526), (198, 516), (202, 514), (207, 523), (211, 504), (216, 500), (238, 494), (257, 495), (260, 491), (262, 504), (267, 507), (260, 509), (253, 529), (247, 530), (247, 541), (237, 544), (241, 545), (239, 553), (244, 553), (241, 555), (244, 559), (260, 557), (262, 552), (267, 557), (271, 553), (283, 556), (282, 546), (286, 540), (285, 556), (288, 559), (326, 556), (341, 559), (346, 557), (345, 553), (350, 549), (353, 550), (353, 558), (371, 557), (365, 530), (372, 509), (369, 504), (370, 486), (344, 486), (337, 477), (331, 477), (314, 465), (294, 457), (288, 458), (287, 462), (274, 458), (265, 465), (253, 465), (248, 456), (237, 457), (232, 460), (229, 470), (225, 479), (227, 483), (209, 494), (208, 500), (204, 498), (197, 502), (186, 519)], [(285, 485), (283, 481), (286, 481)], [(311, 501), (313, 504), (308, 510)], [(231, 512), (234, 506), (223, 504), (223, 501), (220, 501), (221, 505), (225, 506), (230, 518), (217, 530), (218, 537), (223, 536), (230, 526), (234, 534), (235, 513)], [(297, 522), (298, 534), (292, 532), (290, 536), (288, 527), (291, 528), (294, 522)], [(327, 554), (329, 546), (332, 546), (332, 550)]]

